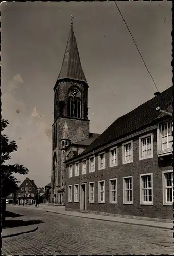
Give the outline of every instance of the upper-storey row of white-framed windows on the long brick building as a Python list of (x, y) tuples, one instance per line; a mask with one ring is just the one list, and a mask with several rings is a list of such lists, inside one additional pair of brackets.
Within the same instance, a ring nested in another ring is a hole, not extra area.
[[(162, 150), (172, 147), (172, 125), (171, 121), (161, 125), (161, 146)], [(133, 162), (133, 141), (122, 144), (123, 164)], [(110, 167), (118, 165), (117, 146), (110, 149)], [(153, 157), (153, 134), (139, 137), (139, 160)], [(89, 158), (89, 172), (95, 171), (95, 156)], [(98, 169), (105, 169), (105, 152), (98, 154)], [(72, 177), (73, 165), (69, 165), (69, 178)], [(87, 172), (87, 160), (82, 160), (82, 174)], [(79, 175), (79, 162), (75, 163), (75, 176)]]

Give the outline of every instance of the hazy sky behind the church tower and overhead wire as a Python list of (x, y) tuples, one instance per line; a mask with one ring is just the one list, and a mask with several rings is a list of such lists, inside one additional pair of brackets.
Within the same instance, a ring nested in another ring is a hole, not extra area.
[[(172, 3), (125, 1), (118, 7), (160, 92), (172, 86)], [(74, 16), (82, 68), (89, 84), (90, 132), (154, 97), (156, 88), (114, 2), (1, 4), (2, 116), (18, 151), (10, 163), (45, 186), (51, 177), (54, 91)], [(17, 175), (19, 181), (25, 176)]]

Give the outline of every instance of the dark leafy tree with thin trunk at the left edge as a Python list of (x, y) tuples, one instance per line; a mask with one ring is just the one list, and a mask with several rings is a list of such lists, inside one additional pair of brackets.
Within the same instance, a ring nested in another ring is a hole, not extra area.
[[(8, 126), (9, 121), (1, 120), (1, 197), (6, 198), (10, 193), (14, 193), (18, 189), (17, 179), (13, 176), (16, 173), (27, 174), (28, 169), (21, 164), (5, 164), (11, 159), (10, 154), (17, 151), (17, 144), (14, 140), (9, 141), (6, 134), (2, 134), (4, 129)], [(5, 221), (5, 200), (2, 200), (2, 224)]]

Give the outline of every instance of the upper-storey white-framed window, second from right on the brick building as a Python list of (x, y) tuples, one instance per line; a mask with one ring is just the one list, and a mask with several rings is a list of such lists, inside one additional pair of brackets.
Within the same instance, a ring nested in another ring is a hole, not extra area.
[(139, 138), (139, 159), (153, 157), (153, 134), (141, 136)]

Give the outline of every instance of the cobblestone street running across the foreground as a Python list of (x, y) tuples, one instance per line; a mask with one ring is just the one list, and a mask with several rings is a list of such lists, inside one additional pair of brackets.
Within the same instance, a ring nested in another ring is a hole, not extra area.
[(13, 206), (7, 210), (43, 223), (33, 233), (4, 238), (4, 255), (173, 254), (172, 230)]

